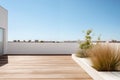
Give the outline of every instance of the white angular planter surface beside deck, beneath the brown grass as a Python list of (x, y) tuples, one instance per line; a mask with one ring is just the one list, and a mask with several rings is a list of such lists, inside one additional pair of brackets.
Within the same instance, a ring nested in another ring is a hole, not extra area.
[(77, 62), (94, 80), (120, 80), (120, 72), (100, 72), (91, 67), (91, 62), (86, 58), (78, 58), (72, 54), (72, 58)]

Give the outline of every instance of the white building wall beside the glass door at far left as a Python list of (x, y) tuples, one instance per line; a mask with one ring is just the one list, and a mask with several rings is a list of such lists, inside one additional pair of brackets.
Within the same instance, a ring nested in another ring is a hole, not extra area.
[(7, 51), (8, 11), (0, 6), (0, 27), (4, 29), (4, 53)]

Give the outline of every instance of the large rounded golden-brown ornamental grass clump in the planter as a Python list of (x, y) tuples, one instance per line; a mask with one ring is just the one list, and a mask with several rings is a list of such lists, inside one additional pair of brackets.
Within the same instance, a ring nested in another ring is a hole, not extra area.
[(98, 44), (89, 53), (93, 67), (98, 71), (116, 71), (120, 66), (120, 50), (109, 44)]

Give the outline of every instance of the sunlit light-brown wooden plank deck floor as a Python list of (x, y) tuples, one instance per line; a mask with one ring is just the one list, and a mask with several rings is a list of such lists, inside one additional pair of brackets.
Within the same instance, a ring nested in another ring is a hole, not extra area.
[(0, 80), (92, 80), (70, 55), (9, 55)]

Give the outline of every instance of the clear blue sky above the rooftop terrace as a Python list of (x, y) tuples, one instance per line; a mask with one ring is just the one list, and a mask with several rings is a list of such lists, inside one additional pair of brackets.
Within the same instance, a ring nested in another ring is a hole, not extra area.
[(0, 0), (8, 15), (8, 40), (120, 40), (120, 0)]

